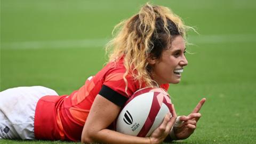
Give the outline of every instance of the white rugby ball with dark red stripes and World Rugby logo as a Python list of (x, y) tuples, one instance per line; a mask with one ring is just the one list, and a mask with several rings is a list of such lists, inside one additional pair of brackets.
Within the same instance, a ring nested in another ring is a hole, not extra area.
[(147, 87), (138, 90), (127, 100), (119, 114), (116, 131), (149, 137), (171, 110), (171, 99), (164, 89)]

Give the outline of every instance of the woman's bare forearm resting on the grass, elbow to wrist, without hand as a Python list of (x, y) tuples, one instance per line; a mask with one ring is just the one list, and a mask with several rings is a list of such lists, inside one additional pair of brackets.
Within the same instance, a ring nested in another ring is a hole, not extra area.
[[(151, 141), (149, 138), (135, 137), (132, 135), (126, 135), (109, 129), (103, 129), (95, 132), (90, 136), (90, 142), (102, 142), (102, 143), (148, 143)], [(83, 143), (89, 143), (88, 141), (82, 141)]]

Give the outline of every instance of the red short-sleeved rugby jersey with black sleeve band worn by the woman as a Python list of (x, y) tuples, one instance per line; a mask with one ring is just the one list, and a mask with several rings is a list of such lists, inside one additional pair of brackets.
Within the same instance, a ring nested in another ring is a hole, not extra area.
[[(97, 94), (122, 107), (140, 89), (139, 82), (134, 82), (131, 75), (127, 75), (125, 91), (125, 71), (123, 59), (117, 63), (109, 62), (70, 95), (47, 95), (39, 99), (35, 111), (35, 138), (81, 141), (83, 126)], [(167, 90), (169, 84), (161, 87)]]

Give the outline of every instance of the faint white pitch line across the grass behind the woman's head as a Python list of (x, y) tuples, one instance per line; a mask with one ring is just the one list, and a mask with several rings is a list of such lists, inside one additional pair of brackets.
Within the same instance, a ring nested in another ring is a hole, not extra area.
[[(62, 41), (34, 41), (1, 43), (1, 49), (63, 49), (63, 48), (103, 48), (109, 39), (81, 39)], [(256, 34), (244, 35), (194, 35), (188, 36), (193, 44), (246, 43), (256, 42)]]

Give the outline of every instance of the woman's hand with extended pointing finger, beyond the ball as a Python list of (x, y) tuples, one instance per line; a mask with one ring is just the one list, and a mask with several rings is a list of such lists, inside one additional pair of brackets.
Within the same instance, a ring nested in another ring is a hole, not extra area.
[(174, 134), (177, 139), (187, 139), (195, 131), (196, 124), (201, 117), (201, 114), (198, 112), (204, 105), (205, 101), (206, 99), (203, 98), (201, 101), (199, 101), (191, 114), (188, 116), (180, 116), (179, 119), (177, 119), (178, 125), (175, 124), (173, 127)]

